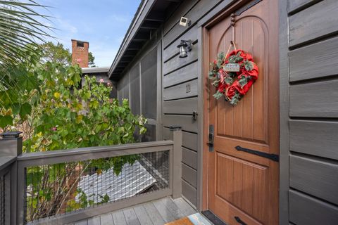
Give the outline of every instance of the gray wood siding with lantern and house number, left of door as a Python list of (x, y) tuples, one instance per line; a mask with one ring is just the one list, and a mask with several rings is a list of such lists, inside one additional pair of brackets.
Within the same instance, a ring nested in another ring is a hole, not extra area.
[[(182, 127), (182, 195), (192, 204), (197, 203), (199, 184), (197, 176), (201, 174), (198, 166), (199, 136), (201, 117), (192, 120), (192, 113), (199, 112), (202, 101), (201, 66), (199, 56), (201, 40), (199, 39), (199, 21), (206, 18), (208, 12), (220, 4), (220, 0), (183, 1), (177, 11), (163, 25), (163, 137), (168, 133), (168, 127)], [(180, 18), (184, 16), (191, 20), (191, 25), (182, 27)], [(186, 58), (179, 58), (177, 45), (181, 40), (192, 40), (192, 51)], [(200, 179), (201, 181), (201, 179)], [(201, 196), (200, 196), (201, 197)]]

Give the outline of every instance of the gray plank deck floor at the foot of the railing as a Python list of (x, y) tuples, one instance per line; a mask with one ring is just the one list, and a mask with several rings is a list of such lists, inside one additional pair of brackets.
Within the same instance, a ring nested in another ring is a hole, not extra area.
[(183, 198), (161, 198), (77, 221), (75, 225), (163, 225), (196, 213)]

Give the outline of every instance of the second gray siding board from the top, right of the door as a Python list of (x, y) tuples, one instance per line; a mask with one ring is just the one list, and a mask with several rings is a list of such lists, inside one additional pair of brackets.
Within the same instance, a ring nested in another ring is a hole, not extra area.
[(320, 1), (289, 17), (289, 46), (296, 46), (338, 31), (337, 0)]

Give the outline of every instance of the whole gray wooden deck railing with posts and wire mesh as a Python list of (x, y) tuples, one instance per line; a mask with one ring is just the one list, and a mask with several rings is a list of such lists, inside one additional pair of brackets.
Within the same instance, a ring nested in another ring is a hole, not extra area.
[[(0, 225), (68, 224), (180, 196), (182, 132), (173, 141), (21, 153), (0, 139)], [(115, 165), (115, 167), (113, 167)]]

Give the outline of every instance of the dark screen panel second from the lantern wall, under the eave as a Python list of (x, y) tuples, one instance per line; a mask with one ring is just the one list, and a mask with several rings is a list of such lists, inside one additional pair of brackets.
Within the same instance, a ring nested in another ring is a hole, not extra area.
[(130, 108), (132, 113), (141, 114), (139, 94), (139, 63), (130, 70)]

